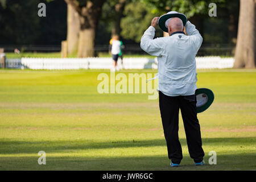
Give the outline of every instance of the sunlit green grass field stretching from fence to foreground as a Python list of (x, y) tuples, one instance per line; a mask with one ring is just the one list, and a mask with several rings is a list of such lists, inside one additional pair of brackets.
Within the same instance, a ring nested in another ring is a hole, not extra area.
[[(198, 114), (205, 166), (189, 157), (183, 122), (181, 167), (169, 167), (158, 100), (99, 94), (107, 70), (0, 70), (0, 170), (255, 170), (256, 70), (200, 70), (215, 100)], [(126, 70), (148, 73), (151, 70)], [(46, 152), (46, 165), (38, 152)], [(217, 165), (209, 165), (216, 151)]]

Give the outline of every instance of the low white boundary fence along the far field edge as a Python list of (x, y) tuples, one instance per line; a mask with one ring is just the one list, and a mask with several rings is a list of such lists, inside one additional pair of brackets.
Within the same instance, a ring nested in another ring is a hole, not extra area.
[[(121, 60), (118, 59), (121, 66)], [(234, 58), (221, 58), (220, 56), (196, 57), (197, 69), (232, 68)], [(9, 68), (29, 69), (110, 69), (112, 68), (111, 57), (89, 58), (27, 58), (21, 60), (7, 59)], [(123, 69), (157, 69), (157, 59), (143, 57), (130, 57), (123, 59)]]

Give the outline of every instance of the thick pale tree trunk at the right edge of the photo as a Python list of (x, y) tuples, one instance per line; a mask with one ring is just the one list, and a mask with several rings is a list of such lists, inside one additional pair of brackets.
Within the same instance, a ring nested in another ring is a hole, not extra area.
[(255, 68), (256, 0), (240, 0), (234, 68)]

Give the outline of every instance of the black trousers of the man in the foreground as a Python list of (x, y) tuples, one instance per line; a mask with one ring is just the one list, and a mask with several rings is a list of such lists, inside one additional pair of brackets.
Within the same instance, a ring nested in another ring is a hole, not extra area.
[(196, 112), (196, 96), (170, 97), (159, 91), (159, 107), (166, 138), (168, 158), (179, 164), (183, 158), (179, 142), (179, 109), (184, 123), (188, 151), (194, 162), (201, 162), (204, 157), (200, 125)]

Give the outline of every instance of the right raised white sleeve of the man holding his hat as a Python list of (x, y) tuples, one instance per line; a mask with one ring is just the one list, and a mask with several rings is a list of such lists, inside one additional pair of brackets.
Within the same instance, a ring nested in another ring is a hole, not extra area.
[(203, 38), (202, 38), (201, 34), (196, 29), (196, 26), (193, 25), (189, 21), (186, 23), (185, 28), (186, 28), (186, 31), (187, 31), (187, 35), (190, 36), (193, 43), (195, 44), (196, 51), (198, 51), (199, 48), (201, 47), (202, 42), (203, 42)]

